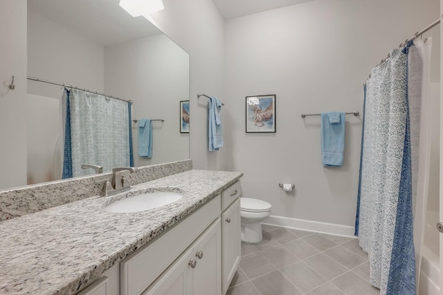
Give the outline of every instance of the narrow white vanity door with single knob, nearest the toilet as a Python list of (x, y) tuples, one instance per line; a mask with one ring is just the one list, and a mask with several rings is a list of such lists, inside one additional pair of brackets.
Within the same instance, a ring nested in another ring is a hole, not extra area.
[(240, 237), (240, 199), (230, 205), (221, 214), (222, 233), (222, 292), (226, 294), (229, 284), (235, 275), (235, 271), (242, 256), (242, 241)]

